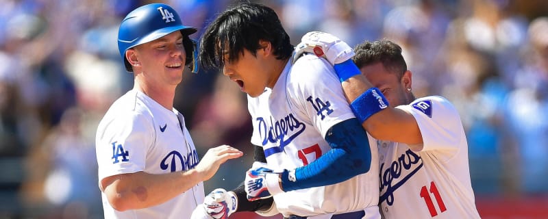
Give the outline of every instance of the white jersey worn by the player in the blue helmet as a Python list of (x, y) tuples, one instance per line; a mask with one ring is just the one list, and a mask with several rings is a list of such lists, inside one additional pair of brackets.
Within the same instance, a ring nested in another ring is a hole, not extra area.
[[(132, 172), (165, 174), (194, 168), (199, 160), (184, 118), (146, 94), (130, 90), (105, 114), (96, 136), (99, 181)], [(175, 198), (145, 209), (116, 211), (105, 194), (105, 218), (190, 218), (205, 196), (203, 183)]]

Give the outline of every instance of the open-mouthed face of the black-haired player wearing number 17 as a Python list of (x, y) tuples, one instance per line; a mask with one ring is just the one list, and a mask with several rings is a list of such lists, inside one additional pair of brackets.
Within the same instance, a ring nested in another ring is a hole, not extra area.
[[(226, 54), (226, 53), (225, 53)], [(229, 77), (240, 86), (240, 90), (249, 94), (249, 96), (259, 96), (264, 92), (264, 88), (269, 86), (268, 75), (264, 71), (262, 53), (251, 54), (247, 49), (239, 53), (238, 59), (229, 62), (228, 55), (225, 55), (225, 65), (223, 66), (223, 75)]]

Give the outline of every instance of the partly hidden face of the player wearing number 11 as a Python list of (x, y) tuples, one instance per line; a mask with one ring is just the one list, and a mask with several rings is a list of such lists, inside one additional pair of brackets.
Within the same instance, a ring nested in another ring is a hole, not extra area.
[(388, 100), (390, 107), (407, 104), (406, 89), (402, 80), (398, 79), (395, 73), (391, 73), (381, 62), (363, 66), (360, 68), (369, 82), (381, 90), (384, 97)]

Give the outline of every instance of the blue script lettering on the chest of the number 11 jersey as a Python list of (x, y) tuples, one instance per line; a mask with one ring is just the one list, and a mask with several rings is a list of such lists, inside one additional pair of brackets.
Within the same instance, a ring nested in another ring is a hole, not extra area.
[[(384, 163), (381, 164), (379, 172), (379, 191), (382, 192), (384, 188), (386, 188), (386, 191), (384, 192), (384, 194), (381, 194), (379, 198), (379, 203), (386, 201), (388, 205), (393, 205), (394, 192), (401, 185), (405, 184), (406, 181), (408, 181), (422, 167), (423, 159), (421, 158), (421, 156), (411, 151), (411, 149), (408, 149), (406, 153), (399, 156), (397, 161), (392, 162), (392, 164), (390, 164), (390, 166), (388, 166), (386, 170), (383, 170)], [(410, 171), (405, 171), (407, 175), (401, 175), (401, 170)]]

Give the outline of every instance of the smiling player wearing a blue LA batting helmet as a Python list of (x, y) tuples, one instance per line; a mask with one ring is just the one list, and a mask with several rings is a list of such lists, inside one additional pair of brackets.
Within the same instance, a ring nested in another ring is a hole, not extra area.
[(118, 46), (134, 88), (116, 100), (96, 136), (99, 188), (105, 218), (190, 218), (203, 201), (203, 183), (227, 159), (242, 153), (231, 146), (210, 149), (199, 161), (185, 120), (175, 108), (175, 87), (195, 47), (165, 4), (127, 14)]

